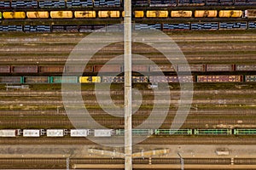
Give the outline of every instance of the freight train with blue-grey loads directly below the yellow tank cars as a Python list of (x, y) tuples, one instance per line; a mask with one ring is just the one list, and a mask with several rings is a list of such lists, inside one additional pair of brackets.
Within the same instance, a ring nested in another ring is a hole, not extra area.
[[(161, 21), (158, 21), (158, 23)], [(107, 27), (111, 26), (111, 27)], [(186, 30), (251, 30), (256, 28), (256, 21), (222, 21), (222, 22), (163, 22), (159, 24), (136, 24), (132, 26), (135, 31), (186, 31)], [(0, 26), (0, 31), (24, 31), (24, 32), (50, 32), (50, 31), (79, 31), (79, 32), (93, 32), (93, 31), (123, 31), (120, 25), (109, 24), (87, 24), (87, 25), (3, 25)]]

